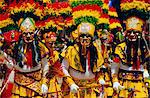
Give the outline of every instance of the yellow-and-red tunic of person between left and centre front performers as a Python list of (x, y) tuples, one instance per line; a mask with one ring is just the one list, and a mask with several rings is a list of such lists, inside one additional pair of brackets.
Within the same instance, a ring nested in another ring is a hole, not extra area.
[(62, 81), (62, 70), (59, 62), (59, 53), (53, 51), (49, 57), (49, 72), (47, 74), (48, 85), (48, 98), (62, 98), (61, 82)]

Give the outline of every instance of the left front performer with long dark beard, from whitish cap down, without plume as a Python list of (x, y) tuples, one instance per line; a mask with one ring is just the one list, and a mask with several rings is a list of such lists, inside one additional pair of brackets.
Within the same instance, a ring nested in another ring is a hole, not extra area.
[(14, 58), (17, 63), (15, 69), (18, 71), (15, 71), (12, 98), (43, 98), (41, 93), (45, 94), (48, 90), (43, 80), (44, 66), (48, 66), (45, 55), (48, 51), (37, 38), (33, 18), (21, 18), (18, 25), (22, 36), (14, 50)]

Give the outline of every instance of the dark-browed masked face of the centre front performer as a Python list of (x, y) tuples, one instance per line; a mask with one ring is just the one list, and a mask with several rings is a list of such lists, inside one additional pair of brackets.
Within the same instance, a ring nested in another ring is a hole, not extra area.
[(80, 44), (81, 44), (82, 46), (89, 47), (92, 38), (91, 38), (90, 35), (82, 34), (82, 35), (80, 35), (79, 40), (80, 40)]

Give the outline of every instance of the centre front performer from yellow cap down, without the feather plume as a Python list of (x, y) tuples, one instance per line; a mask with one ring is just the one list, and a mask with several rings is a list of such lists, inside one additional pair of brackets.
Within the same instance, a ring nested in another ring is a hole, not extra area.
[[(104, 60), (100, 49), (93, 43), (95, 26), (83, 22), (77, 29), (79, 41), (67, 48), (62, 61), (64, 81), (70, 88), (70, 93), (66, 92), (64, 96), (66, 98), (96, 98), (96, 92), (99, 93), (97, 88), (103, 80), (98, 69)], [(63, 90), (69, 89), (64, 86)]]

